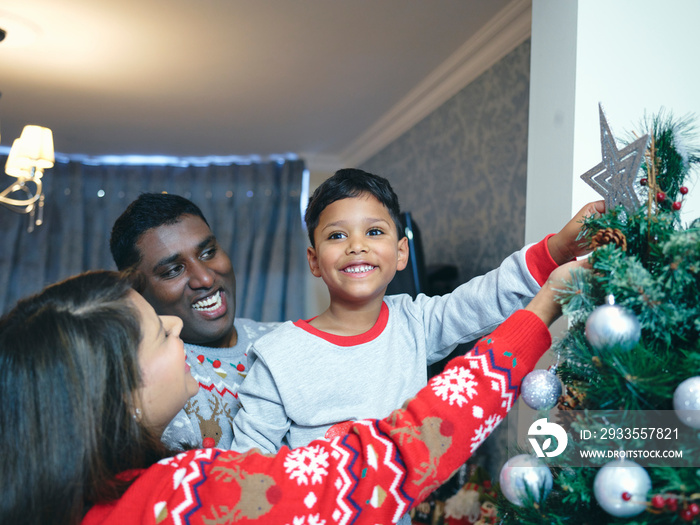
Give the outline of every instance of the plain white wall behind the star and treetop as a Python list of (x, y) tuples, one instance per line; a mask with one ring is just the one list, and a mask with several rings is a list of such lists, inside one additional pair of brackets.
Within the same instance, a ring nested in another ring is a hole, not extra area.
[[(527, 242), (600, 198), (580, 179), (601, 161), (598, 103), (616, 137), (662, 107), (700, 117), (698, 19), (697, 0), (534, 0)], [(686, 222), (700, 216), (688, 186)]]

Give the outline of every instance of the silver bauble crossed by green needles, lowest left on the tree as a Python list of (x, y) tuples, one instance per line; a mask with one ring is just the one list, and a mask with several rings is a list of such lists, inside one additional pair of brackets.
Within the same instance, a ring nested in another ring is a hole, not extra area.
[(552, 490), (552, 472), (537, 457), (519, 454), (506, 461), (499, 476), (501, 491), (508, 501), (522, 507), (529, 498), (540, 503)]

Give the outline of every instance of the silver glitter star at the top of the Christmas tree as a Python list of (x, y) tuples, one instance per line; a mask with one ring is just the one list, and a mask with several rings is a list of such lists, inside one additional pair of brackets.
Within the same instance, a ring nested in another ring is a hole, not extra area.
[(649, 135), (618, 150), (600, 104), (598, 110), (603, 161), (581, 175), (581, 178), (603, 196), (606, 211), (622, 204), (628, 212), (634, 213), (641, 204), (634, 189), (634, 181), (644, 159)]

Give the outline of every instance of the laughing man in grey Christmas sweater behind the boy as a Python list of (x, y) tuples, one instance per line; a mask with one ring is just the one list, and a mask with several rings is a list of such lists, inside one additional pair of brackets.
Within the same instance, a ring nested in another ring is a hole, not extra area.
[(229, 448), (248, 347), (277, 323), (235, 318), (231, 259), (201, 210), (183, 197), (139, 196), (115, 221), (110, 250), (159, 315), (183, 321), (180, 337), (199, 392), (165, 429), (163, 441), (174, 448)]

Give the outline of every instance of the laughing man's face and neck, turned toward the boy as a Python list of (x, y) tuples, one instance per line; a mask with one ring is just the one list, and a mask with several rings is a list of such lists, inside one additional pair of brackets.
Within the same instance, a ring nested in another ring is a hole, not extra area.
[(236, 344), (236, 278), (231, 259), (199, 217), (144, 232), (136, 243), (141, 294), (158, 315), (176, 315), (186, 343), (215, 348)]

